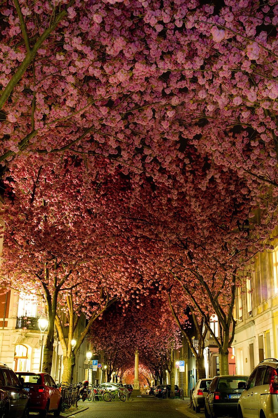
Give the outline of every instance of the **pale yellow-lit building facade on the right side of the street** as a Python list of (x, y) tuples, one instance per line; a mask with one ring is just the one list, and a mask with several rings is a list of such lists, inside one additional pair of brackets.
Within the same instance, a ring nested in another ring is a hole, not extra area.
[(278, 357), (278, 245), (256, 255), (249, 280), (238, 288), (235, 316), (236, 370), (249, 375), (263, 359)]

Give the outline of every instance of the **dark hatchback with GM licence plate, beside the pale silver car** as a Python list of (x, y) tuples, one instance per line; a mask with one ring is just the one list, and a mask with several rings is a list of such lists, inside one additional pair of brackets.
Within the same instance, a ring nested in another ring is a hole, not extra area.
[(215, 376), (205, 397), (205, 417), (237, 416), (238, 400), (247, 380), (248, 376)]

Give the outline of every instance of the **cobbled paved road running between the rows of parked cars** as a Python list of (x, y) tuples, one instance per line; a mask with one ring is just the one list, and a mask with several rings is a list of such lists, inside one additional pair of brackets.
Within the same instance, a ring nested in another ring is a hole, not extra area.
[[(126, 402), (87, 402), (89, 409), (72, 418), (191, 418), (187, 404), (179, 399), (131, 398)], [(201, 417), (200, 417), (201, 418)]]

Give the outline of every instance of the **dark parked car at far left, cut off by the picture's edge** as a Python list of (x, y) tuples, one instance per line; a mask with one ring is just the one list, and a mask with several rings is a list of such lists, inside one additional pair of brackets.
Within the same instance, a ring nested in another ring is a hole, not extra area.
[(0, 364), (0, 411), (1, 417), (27, 418), (30, 398), (15, 372)]

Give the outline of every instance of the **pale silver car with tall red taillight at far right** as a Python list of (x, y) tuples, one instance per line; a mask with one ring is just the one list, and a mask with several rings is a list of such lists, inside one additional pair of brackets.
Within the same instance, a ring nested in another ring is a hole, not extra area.
[(278, 359), (265, 359), (249, 376), (238, 401), (238, 416), (278, 416)]

